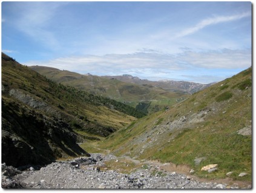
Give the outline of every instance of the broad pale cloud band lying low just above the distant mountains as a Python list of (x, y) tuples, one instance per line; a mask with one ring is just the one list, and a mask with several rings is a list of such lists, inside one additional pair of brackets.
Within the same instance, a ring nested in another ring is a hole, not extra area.
[[(139, 77), (166, 77), (174, 79), (180, 77), (182, 80), (185, 72), (206, 72), (200, 81), (209, 83), (207, 73), (215, 69), (232, 71), (232, 69), (245, 69), (251, 66), (251, 51), (223, 49), (222, 51), (196, 52), (185, 49), (180, 54), (157, 53), (154, 50), (136, 52), (134, 54), (108, 54), (108, 55), (85, 55), (84, 57), (63, 57), (45, 62), (27, 62), (28, 66), (42, 65), (58, 69), (85, 74), (90, 72), (94, 75), (120, 75), (131, 74)], [(208, 72), (207, 72), (208, 71)], [(188, 77), (188, 76), (187, 76)], [(225, 77), (222, 75), (212, 78), (220, 81)], [(199, 80), (197, 78), (197, 80)]]

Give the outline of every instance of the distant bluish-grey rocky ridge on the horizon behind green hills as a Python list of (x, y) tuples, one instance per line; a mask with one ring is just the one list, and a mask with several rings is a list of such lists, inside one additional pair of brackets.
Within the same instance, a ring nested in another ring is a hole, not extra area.
[(134, 83), (138, 85), (150, 85), (154, 87), (160, 87), (163, 90), (169, 92), (179, 92), (179, 93), (187, 93), (192, 94), (198, 92), (199, 90), (203, 90), (206, 87), (211, 86), (215, 83), (209, 84), (200, 84), (200, 83), (192, 83), (188, 81), (174, 81), (174, 80), (159, 80), (159, 81), (149, 81), (146, 79), (140, 79), (139, 77), (133, 77), (132, 75), (123, 74), (120, 76), (103, 76), (108, 79), (116, 79), (123, 81), (125, 83)]

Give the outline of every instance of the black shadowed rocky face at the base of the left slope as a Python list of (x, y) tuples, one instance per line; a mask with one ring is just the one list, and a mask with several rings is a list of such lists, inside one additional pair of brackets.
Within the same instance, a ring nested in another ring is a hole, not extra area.
[(77, 135), (54, 116), (42, 115), (2, 98), (2, 162), (11, 166), (45, 165), (57, 157), (87, 155)]

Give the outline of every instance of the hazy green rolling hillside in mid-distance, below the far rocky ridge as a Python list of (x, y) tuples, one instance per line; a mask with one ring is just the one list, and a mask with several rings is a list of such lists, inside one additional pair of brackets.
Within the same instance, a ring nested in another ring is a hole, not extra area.
[[(133, 82), (117, 80), (116, 78), (88, 74), (81, 75), (76, 72), (61, 71), (46, 66), (31, 66), (30, 68), (58, 83), (74, 86), (80, 90), (87, 90), (93, 94), (121, 101), (136, 107), (138, 110), (142, 110), (144, 113), (162, 110), (166, 106), (186, 98), (184, 93), (170, 92), (150, 84), (135, 84)], [(139, 79), (130, 75), (125, 75), (124, 77), (131, 78), (132, 80)]]

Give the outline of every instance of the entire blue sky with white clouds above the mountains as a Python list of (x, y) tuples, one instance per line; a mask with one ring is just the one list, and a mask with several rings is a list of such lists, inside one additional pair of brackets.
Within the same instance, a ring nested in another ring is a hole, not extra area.
[(251, 2), (2, 2), (5, 54), (80, 74), (211, 83), (252, 65)]

